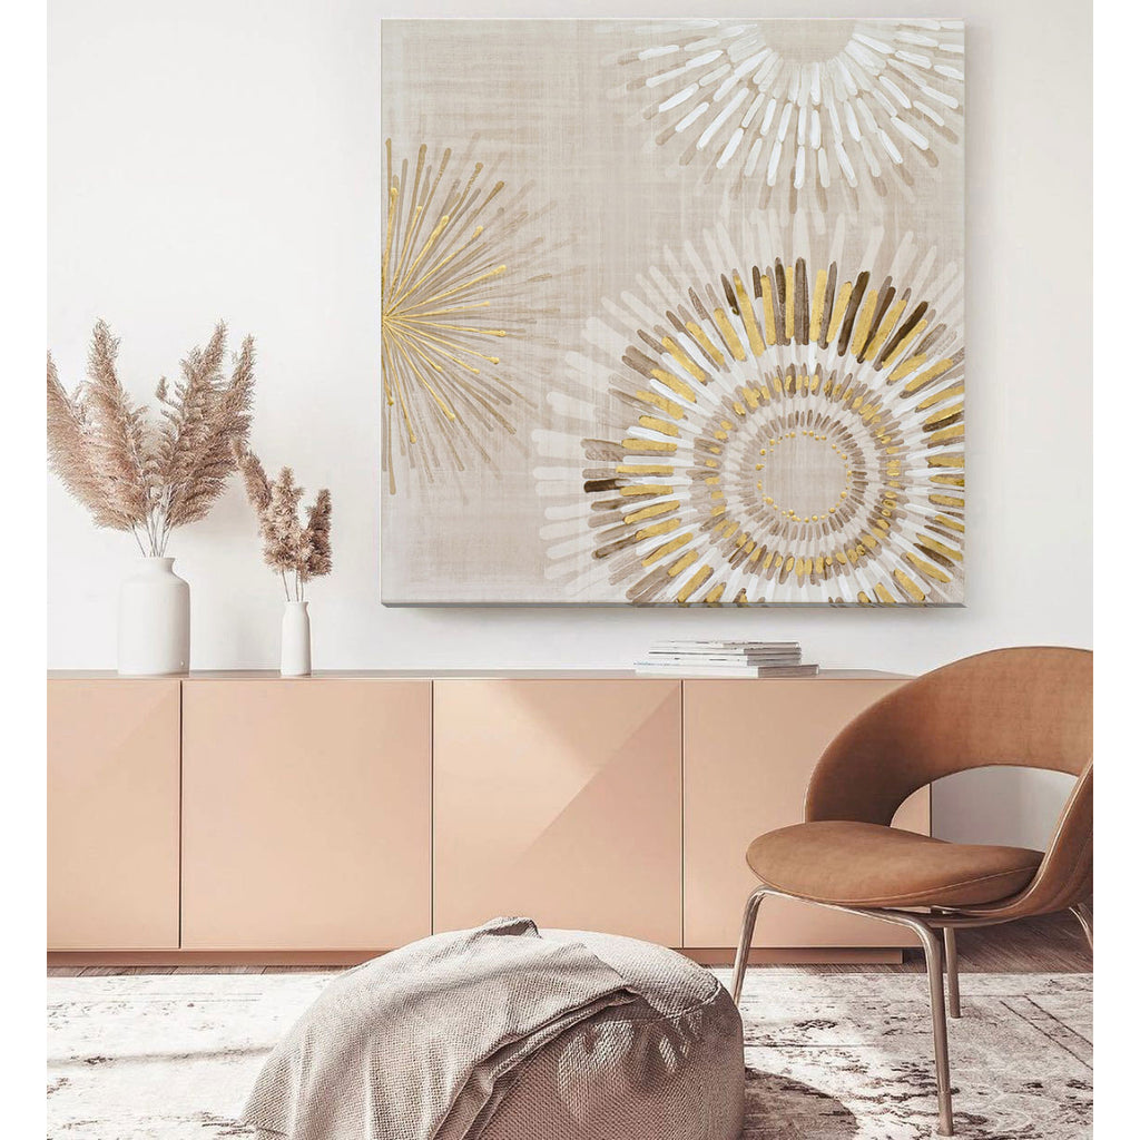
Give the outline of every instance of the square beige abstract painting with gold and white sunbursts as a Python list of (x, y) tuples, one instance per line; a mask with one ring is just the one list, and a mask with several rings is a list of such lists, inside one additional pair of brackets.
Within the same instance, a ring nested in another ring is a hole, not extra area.
[(959, 21), (386, 21), (389, 604), (964, 600)]

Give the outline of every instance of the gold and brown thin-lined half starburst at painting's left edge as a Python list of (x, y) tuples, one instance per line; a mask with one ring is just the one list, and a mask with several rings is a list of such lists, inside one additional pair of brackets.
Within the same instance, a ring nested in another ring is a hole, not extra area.
[(526, 205), (482, 162), (392, 157), (385, 141), (388, 212), (381, 266), (384, 385), (383, 464), (434, 481), (474, 459), (497, 470), (495, 453), (515, 434), (529, 398), (512, 367), (512, 342), (539, 337), (548, 310), (553, 252)]

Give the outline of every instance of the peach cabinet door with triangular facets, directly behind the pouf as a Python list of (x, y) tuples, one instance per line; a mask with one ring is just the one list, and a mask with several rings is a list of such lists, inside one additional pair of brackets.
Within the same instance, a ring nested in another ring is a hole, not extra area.
[(437, 681), (434, 929), (681, 943), (681, 686)]

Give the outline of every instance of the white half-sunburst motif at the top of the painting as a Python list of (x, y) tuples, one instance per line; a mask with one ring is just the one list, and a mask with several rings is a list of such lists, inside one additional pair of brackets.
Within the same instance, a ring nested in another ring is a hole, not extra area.
[(684, 21), (640, 34), (648, 46), (617, 63), (656, 142), (706, 179), (734, 176), (762, 209), (782, 190), (791, 209), (891, 188), (911, 199), (961, 147), (961, 21)]

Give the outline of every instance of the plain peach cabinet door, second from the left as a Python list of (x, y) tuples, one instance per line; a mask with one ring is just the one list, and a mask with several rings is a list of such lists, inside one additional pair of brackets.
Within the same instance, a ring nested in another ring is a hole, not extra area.
[(182, 946), (389, 950), (426, 935), (430, 682), (184, 687)]

